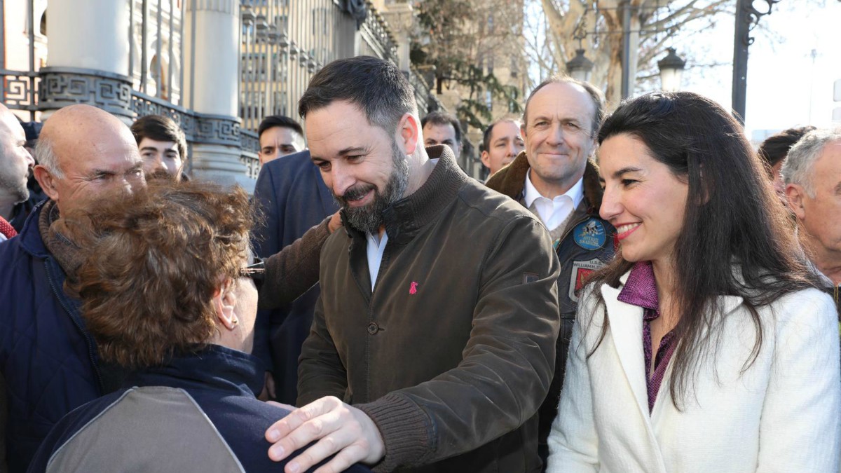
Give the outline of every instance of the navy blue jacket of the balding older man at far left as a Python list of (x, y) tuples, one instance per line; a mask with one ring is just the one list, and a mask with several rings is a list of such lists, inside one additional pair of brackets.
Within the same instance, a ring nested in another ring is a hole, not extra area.
[(25, 471), (61, 417), (103, 394), (93, 337), (65, 274), (44, 245), (37, 205), (18, 237), (0, 245), (0, 370), (8, 393), (9, 471)]

